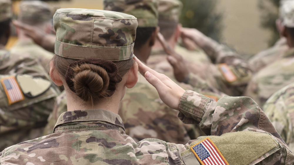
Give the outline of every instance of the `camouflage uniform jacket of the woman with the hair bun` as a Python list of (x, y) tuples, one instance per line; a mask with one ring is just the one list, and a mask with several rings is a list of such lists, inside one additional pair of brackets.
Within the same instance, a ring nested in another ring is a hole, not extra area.
[[(293, 153), (251, 98), (225, 96), (214, 102), (199, 93), (186, 91), (179, 110), (183, 122), (199, 124), (211, 135), (191, 140), (185, 145), (152, 138), (136, 143), (125, 134), (119, 115), (101, 109), (75, 110), (60, 115), (53, 134), (3, 150), (0, 162), (199, 164), (190, 147), (206, 137), (215, 142), (228, 164), (294, 162)], [(101, 117), (103, 120), (98, 119)]]

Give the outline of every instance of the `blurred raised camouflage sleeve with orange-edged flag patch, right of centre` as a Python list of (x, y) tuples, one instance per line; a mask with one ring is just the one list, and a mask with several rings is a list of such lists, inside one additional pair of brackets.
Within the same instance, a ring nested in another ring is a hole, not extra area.
[(206, 36), (200, 46), (220, 72), (216, 77), (223, 84), (219, 90), (230, 96), (240, 96), (252, 77), (251, 65), (235, 50)]

